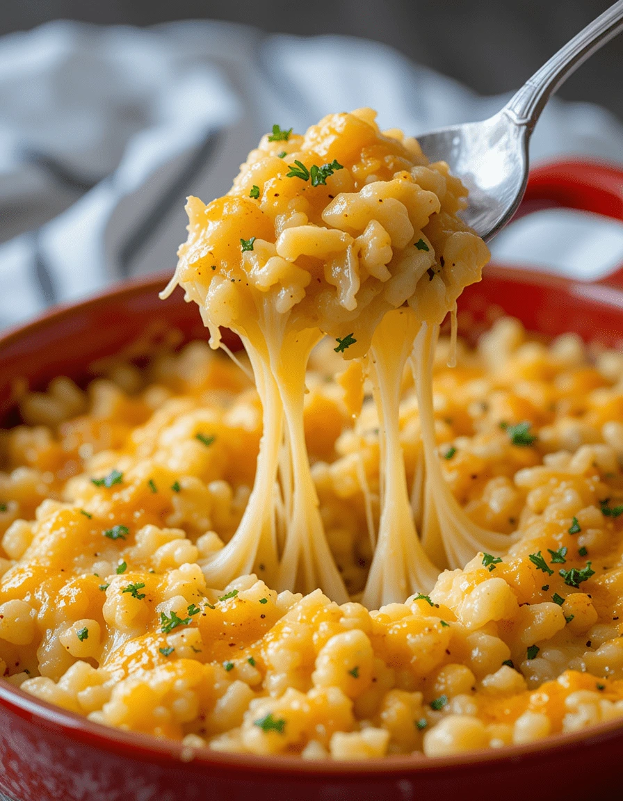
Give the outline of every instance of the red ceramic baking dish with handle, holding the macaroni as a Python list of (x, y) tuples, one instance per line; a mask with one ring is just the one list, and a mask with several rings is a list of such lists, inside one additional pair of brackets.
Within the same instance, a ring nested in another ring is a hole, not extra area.
[[(558, 162), (530, 176), (520, 213), (569, 206), (623, 219), (623, 171), (601, 163)], [(12, 411), (15, 381), (38, 388), (58, 374), (81, 381), (93, 360), (176, 328), (203, 337), (194, 304), (165, 279), (142, 279), (93, 300), (54, 309), (0, 338), (0, 415)], [(501, 266), (460, 299), (472, 332), (492, 308), (545, 335), (573, 331), (614, 345), (623, 339), (623, 272), (581, 284)], [(140, 348), (135, 346), (135, 355)], [(391, 757), (352, 763), (191, 751), (179, 743), (90, 723), (0, 679), (0, 798), (11, 801), (412, 801), (442, 799), (618, 798), (623, 721), (528, 746), (446, 759)]]

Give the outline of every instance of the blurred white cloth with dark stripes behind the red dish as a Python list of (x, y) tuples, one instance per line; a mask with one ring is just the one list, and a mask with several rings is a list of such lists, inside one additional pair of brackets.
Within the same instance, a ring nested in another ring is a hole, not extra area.
[[(417, 135), (503, 103), (355, 38), (223, 22), (54, 22), (11, 34), (0, 40), (0, 327), (126, 276), (172, 271), (184, 197), (226, 191), (273, 123), (304, 131), (365, 105), (382, 127)], [(623, 163), (623, 126), (555, 101), (532, 158), (561, 154)], [(561, 219), (517, 223), (495, 249), (587, 276), (623, 260), (623, 225), (589, 219), (578, 238), (577, 222)], [(537, 239), (526, 224), (541, 226)]]

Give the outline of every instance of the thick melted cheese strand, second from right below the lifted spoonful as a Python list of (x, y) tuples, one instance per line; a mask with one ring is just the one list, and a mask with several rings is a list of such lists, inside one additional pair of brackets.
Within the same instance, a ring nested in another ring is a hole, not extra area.
[(380, 400), (385, 482), (379, 534), (362, 598), (368, 609), (404, 601), (414, 592), (428, 592), (439, 574), (424, 553), (413, 523), (400, 445), (400, 384), (416, 331), (415, 315), (404, 307), (388, 312), (372, 338), (371, 373)]

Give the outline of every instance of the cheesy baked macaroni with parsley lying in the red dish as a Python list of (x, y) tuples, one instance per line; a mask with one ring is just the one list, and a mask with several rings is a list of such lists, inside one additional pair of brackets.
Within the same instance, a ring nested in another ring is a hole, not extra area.
[[(517, 532), (428, 595), (379, 611), (202, 567), (247, 504), (259, 397), (207, 344), (58, 378), (2, 435), (0, 670), (38, 698), (131, 731), (307, 759), (448, 755), (623, 714), (623, 356), (549, 347), (499, 320), (434, 367), (445, 480), (480, 525)], [(329, 545), (354, 599), (379, 514), (379, 431), (353, 427), (331, 344), (304, 427)], [(404, 378), (410, 485), (420, 441)], [(366, 500), (368, 498), (368, 501)]]

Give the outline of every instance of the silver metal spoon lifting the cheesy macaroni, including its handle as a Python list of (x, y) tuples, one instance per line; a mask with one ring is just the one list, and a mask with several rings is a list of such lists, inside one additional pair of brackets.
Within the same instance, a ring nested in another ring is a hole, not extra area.
[(428, 159), (448, 162), (468, 187), (468, 207), (461, 216), (485, 241), (508, 223), (524, 195), (530, 135), (545, 103), (621, 30), (623, 0), (618, 0), (541, 66), (495, 116), (418, 137)]

